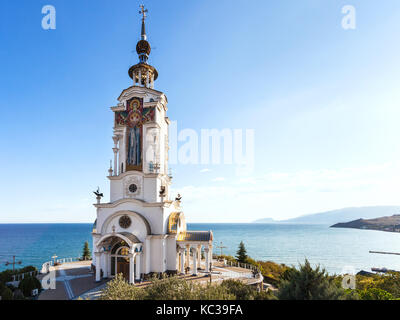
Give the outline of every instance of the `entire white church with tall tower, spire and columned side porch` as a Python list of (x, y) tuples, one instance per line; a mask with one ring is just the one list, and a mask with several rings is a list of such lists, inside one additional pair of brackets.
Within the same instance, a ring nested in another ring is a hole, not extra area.
[(139, 63), (129, 69), (133, 85), (122, 91), (114, 112), (114, 165), (110, 202), (97, 193), (93, 227), (96, 281), (122, 273), (130, 282), (153, 273), (209, 272), (211, 231), (186, 230), (181, 196), (170, 200), (168, 100), (154, 89), (157, 70), (147, 63), (147, 10), (141, 6)]

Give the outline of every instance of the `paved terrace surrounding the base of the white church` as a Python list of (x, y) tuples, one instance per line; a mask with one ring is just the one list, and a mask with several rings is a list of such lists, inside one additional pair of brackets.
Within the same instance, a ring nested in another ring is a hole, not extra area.
[[(82, 261), (52, 267), (51, 270), (56, 272), (56, 289), (42, 291), (39, 300), (98, 299), (101, 295), (101, 290), (106, 287), (107, 282), (111, 279), (96, 282), (95, 275), (90, 271), (90, 265), (91, 261)], [(40, 275), (39, 279), (41, 280), (43, 277), (45, 275)], [(178, 277), (202, 284), (210, 282), (208, 274), (201, 270), (199, 270), (197, 276), (180, 275)], [(224, 266), (221, 262), (213, 261), (212, 283), (220, 283), (227, 279), (236, 279), (248, 284), (256, 284), (261, 280), (254, 278), (251, 270)], [(137, 287), (146, 287), (149, 285), (151, 285), (150, 281), (136, 284)]]

